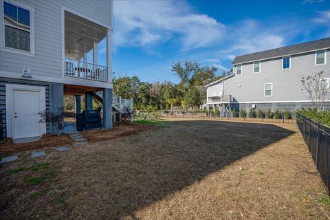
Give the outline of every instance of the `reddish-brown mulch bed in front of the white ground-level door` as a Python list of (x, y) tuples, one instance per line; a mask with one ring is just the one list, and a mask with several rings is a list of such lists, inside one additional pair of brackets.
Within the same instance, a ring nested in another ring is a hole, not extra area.
[(11, 139), (5, 138), (0, 142), (0, 155), (12, 155), (14, 153), (21, 153), (23, 151), (63, 146), (72, 144), (73, 142), (74, 140), (72, 140), (69, 135), (61, 135), (58, 137), (57, 135), (45, 134), (39, 141), (21, 144), (14, 143)]

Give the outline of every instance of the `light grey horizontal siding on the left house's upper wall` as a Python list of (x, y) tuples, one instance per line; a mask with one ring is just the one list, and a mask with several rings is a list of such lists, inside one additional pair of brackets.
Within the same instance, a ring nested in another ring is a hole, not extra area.
[[(61, 6), (92, 20), (111, 27), (111, 0), (17, 0), (22, 5), (34, 8), (34, 48), (35, 56), (26, 56), (0, 51), (1, 72), (22, 73), (23, 68), (31, 69), (34, 76), (62, 78), (62, 29)], [(1, 12), (1, 16), (3, 16)], [(2, 27), (0, 27), (2, 28)], [(2, 36), (1, 36), (2, 38)], [(52, 81), (52, 80), (50, 80)]]

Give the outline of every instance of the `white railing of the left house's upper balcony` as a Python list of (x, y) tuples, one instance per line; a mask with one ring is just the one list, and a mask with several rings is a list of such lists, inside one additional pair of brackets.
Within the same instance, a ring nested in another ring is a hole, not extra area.
[(87, 63), (84, 61), (77, 61), (71, 58), (65, 58), (65, 76), (75, 78), (84, 78), (87, 80), (108, 81), (108, 68)]

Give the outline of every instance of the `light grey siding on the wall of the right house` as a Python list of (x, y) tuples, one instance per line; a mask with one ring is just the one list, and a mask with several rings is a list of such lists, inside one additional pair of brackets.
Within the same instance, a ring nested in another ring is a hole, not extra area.
[[(223, 94), (231, 94), (237, 102), (250, 103), (308, 100), (300, 80), (320, 71), (330, 78), (330, 50), (326, 65), (315, 65), (314, 52), (292, 56), (291, 69), (282, 69), (282, 58), (261, 61), (258, 74), (253, 73), (252, 63), (245, 63), (240, 76), (224, 80)], [(265, 97), (265, 83), (273, 84), (272, 96)]]

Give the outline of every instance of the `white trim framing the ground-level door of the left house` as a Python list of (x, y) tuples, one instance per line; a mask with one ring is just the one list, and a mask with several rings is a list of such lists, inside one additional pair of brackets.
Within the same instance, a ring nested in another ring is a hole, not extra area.
[[(12, 111), (13, 107), (13, 94), (14, 90), (26, 90), (26, 91), (39, 91), (41, 93), (41, 103), (46, 102), (46, 89), (45, 87), (38, 87), (32, 85), (17, 85), (17, 84), (5, 84), (5, 119), (6, 119), (6, 129), (7, 137), (12, 137)], [(45, 105), (41, 105), (41, 111), (45, 111)], [(46, 123), (41, 124), (41, 133), (46, 133)]]

